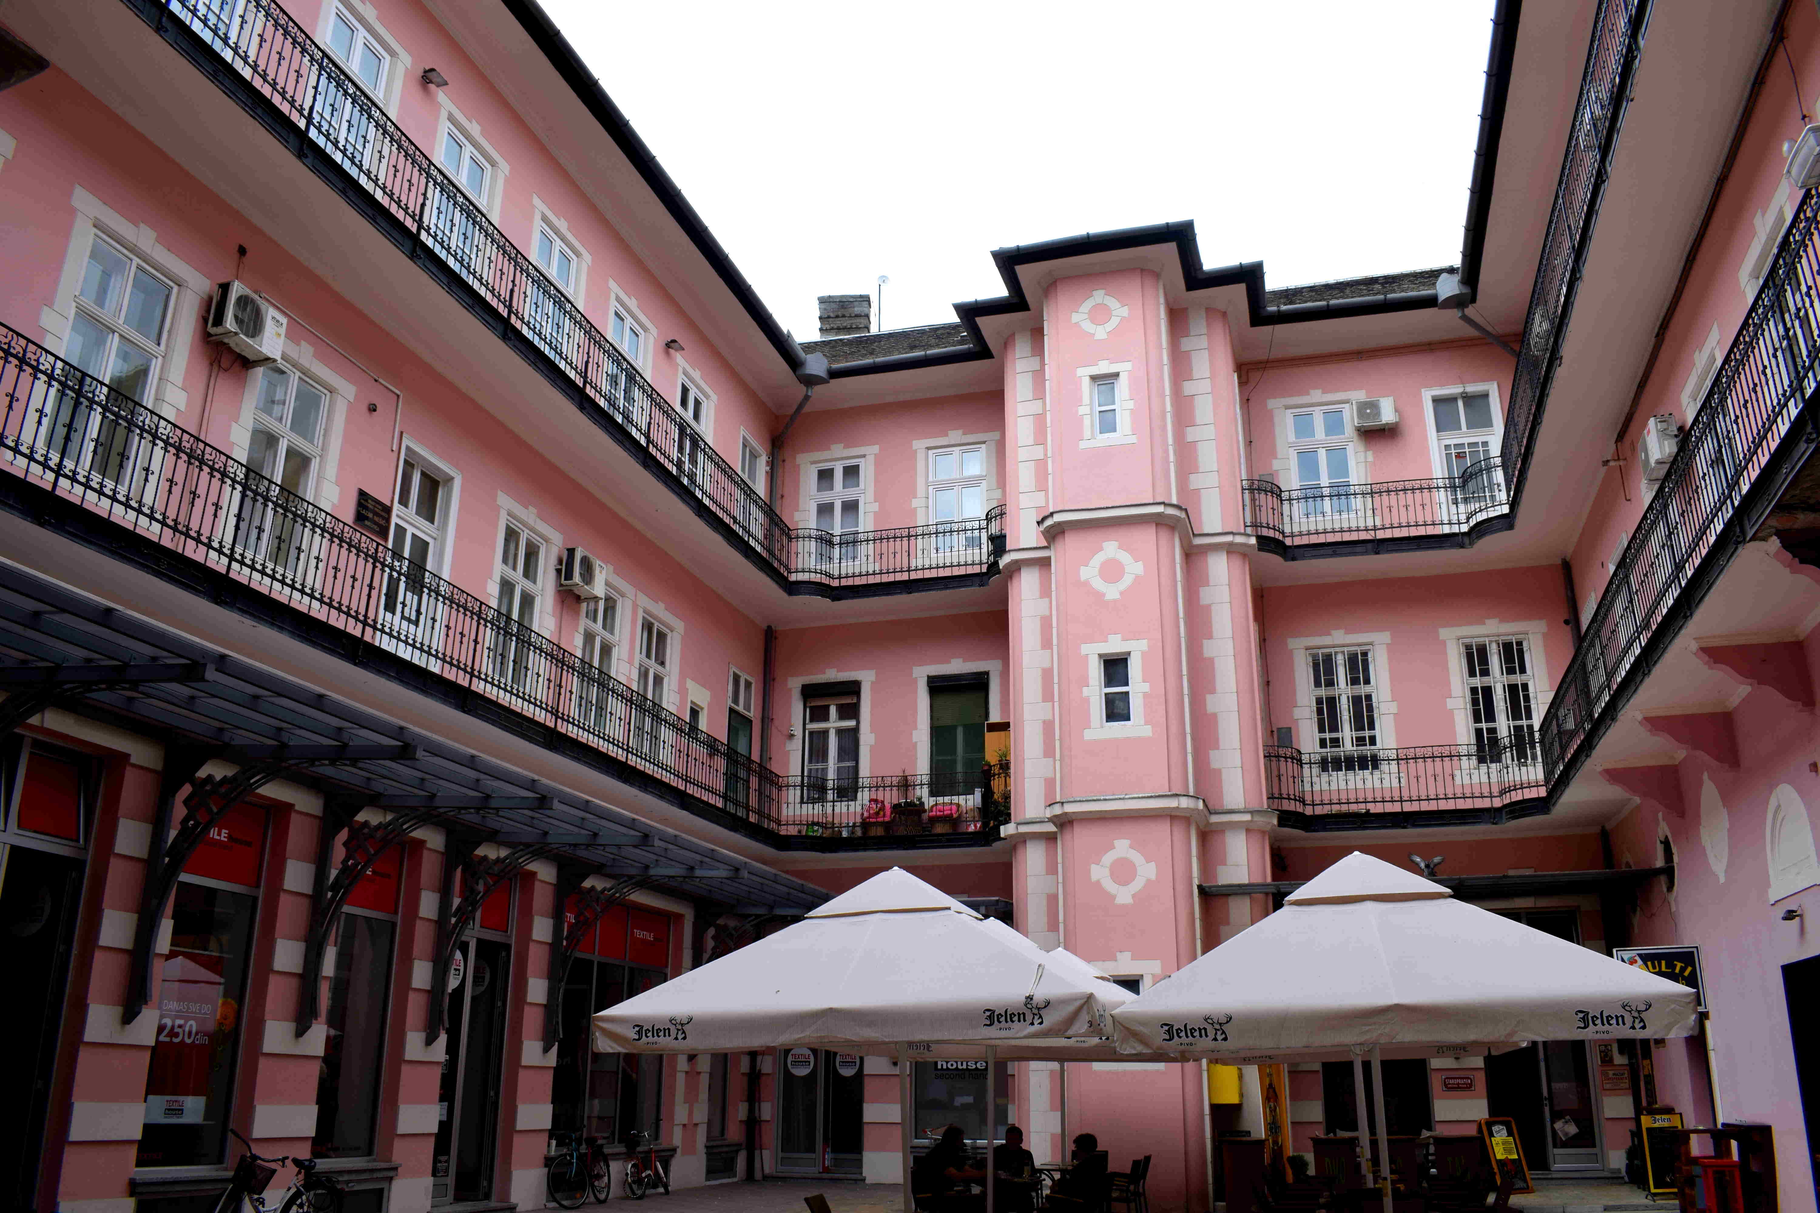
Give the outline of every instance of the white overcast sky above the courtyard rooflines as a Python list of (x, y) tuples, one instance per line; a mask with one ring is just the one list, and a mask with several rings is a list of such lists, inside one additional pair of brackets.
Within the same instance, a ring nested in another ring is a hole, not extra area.
[(1272, 287), (1454, 264), (1492, 0), (544, 0), (772, 313), (1192, 218)]

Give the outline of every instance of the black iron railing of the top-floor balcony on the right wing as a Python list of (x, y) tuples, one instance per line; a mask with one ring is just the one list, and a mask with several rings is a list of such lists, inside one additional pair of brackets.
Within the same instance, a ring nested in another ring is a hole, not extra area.
[(1529, 313), (1523, 316), (1523, 346), (1511, 380), (1511, 406), (1503, 418), (1502, 455), (1512, 511), (1523, 496), (1542, 409), (1562, 362), (1562, 338), (1572, 316), (1605, 182), (1611, 178), (1618, 129), (1631, 104), (1631, 75), (1643, 49), (1653, 2), (1600, 0), (1592, 18), (1592, 42), (1580, 76), (1574, 124), (1567, 133), (1567, 153), (1554, 184), (1549, 227), (1529, 291)]

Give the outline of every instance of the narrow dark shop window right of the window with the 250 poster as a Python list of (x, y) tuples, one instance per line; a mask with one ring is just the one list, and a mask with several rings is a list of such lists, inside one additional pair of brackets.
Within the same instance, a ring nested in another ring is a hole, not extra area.
[(328, 1044), (317, 1071), (317, 1158), (359, 1158), (375, 1149), (384, 1073), (391, 938), (382, 918), (342, 915), (329, 975)]

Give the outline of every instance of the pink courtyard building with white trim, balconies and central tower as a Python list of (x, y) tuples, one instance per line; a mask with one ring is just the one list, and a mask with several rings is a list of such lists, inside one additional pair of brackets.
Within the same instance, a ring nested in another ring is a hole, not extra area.
[[(1396, 1062), (1392, 1133), (1769, 1126), (1813, 1211), (1796, 78), (1802, 5), (1500, 0), (1452, 266), (1161, 224), (799, 342), (533, 4), (0, 7), (11, 1204), (213, 1208), (233, 1135), (393, 1213), (573, 1133), (897, 1182), (895, 1062), (588, 1013), (892, 866), (1143, 989), (1363, 849), (1704, 960), (1702, 1035)], [(919, 1142), (1158, 1213), (1358, 1129), (1349, 1066), (914, 1066)]]

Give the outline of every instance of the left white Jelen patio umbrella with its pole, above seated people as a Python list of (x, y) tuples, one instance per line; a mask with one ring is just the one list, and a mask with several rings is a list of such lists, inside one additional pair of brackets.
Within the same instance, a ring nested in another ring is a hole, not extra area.
[[(1057, 962), (903, 871), (872, 877), (784, 927), (595, 1013), (602, 1053), (733, 1053), (895, 1046), (910, 1193), (908, 1042), (985, 1046), (1105, 1037), (1125, 991)], [(992, 1135), (988, 1126), (986, 1137)], [(990, 1142), (988, 1153), (990, 1153)], [(986, 1168), (992, 1198), (992, 1168)]]

